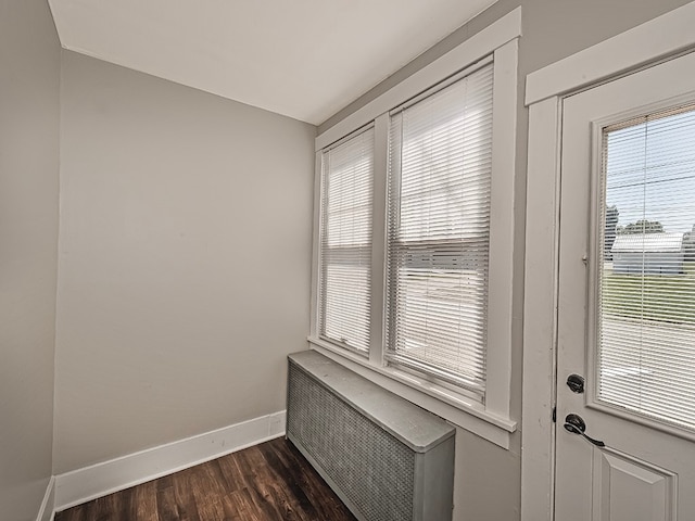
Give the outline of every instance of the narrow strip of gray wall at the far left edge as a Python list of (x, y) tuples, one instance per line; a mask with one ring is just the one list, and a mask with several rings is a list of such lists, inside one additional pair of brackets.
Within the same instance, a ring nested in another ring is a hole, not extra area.
[(51, 475), (60, 45), (45, 0), (0, 0), (0, 518)]

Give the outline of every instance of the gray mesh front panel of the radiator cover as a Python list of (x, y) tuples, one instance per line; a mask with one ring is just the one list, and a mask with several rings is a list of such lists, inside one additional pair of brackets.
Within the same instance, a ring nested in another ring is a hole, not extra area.
[(414, 453), (293, 366), (289, 381), (288, 432), (364, 518), (413, 519)]

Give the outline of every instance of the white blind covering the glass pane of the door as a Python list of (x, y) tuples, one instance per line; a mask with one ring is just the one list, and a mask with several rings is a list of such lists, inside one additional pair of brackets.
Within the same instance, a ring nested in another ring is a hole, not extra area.
[(597, 398), (695, 430), (695, 105), (603, 138)]

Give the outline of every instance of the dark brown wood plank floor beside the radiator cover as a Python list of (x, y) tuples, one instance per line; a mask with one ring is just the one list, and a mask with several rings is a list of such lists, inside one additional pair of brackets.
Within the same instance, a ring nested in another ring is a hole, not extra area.
[(55, 516), (55, 521), (354, 519), (299, 450), (282, 437)]

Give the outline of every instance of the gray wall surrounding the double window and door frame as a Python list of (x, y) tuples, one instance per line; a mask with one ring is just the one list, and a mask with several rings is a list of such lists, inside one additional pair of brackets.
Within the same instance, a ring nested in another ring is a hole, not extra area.
[[(690, 0), (500, 0), (401, 71), (387, 78), (318, 128), (325, 131), (346, 115), (402, 81), (422, 66), (470, 38), (518, 5), (522, 5), (523, 36), (519, 42), (519, 100), (526, 75), (582, 49), (620, 34)], [(521, 416), (521, 353), (523, 320), (523, 243), (528, 113), (518, 111), (515, 219), (513, 407)], [(532, 232), (532, 230), (530, 230)], [(458, 431), (455, 482), (456, 521), (513, 521), (520, 511), (519, 432), (510, 450)]]

